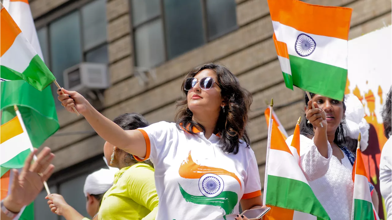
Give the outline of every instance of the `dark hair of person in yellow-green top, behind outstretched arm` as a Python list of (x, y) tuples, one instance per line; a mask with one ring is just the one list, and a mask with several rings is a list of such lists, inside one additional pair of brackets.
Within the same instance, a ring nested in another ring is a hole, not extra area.
[[(137, 113), (126, 113), (120, 115), (116, 117), (113, 122), (120, 126), (123, 130), (135, 130), (138, 128), (147, 127), (149, 125), (147, 120), (142, 115)], [(117, 148), (116, 151), (119, 153), (125, 153), (125, 165), (132, 166), (133, 164), (139, 163), (139, 161), (137, 161), (132, 154), (127, 153), (120, 148)], [(153, 166), (151, 160), (145, 160), (142, 163)]]

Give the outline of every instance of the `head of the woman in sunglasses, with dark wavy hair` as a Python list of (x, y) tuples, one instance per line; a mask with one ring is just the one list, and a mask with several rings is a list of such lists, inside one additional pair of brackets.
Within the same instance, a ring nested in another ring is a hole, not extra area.
[(229, 69), (215, 63), (196, 67), (185, 77), (181, 90), (178, 127), (192, 134), (194, 128), (219, 134), (223, 152), (238, 153), (241, 139), (249, 146), (245, 126), (252, 96)]

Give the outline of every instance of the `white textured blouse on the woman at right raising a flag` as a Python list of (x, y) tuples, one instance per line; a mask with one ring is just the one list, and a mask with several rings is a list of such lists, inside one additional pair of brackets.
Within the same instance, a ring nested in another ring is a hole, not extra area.
[[(291, 144), (292, 136), (287, 138)], [(312, 139), (300, 136), (301, 169), (305, 174), (314, 195), (318, 198), (331, 220), (350, 220), (354, 183), (352, 165), (343, 153), (342, 162), (332, 155), (328, 142), (328, 158), (317, 150)]]

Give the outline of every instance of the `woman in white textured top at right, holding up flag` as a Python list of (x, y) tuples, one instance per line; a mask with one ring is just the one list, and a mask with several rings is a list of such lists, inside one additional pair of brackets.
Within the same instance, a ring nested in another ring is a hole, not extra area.
[[(331, 220), (350, 220), (356, 146), (348, 149), (345, 145), (346, 106), (342, 101), (318, 94), (310, 93), (310, 96), (309, 101), (305, 94), (307, 120), (302, 120), (300, 125), (301, 168)], [(292, 136), (286, 142), (290, 144), (291, 140)], [(374, 189), (371, 184), (369, 188)]]

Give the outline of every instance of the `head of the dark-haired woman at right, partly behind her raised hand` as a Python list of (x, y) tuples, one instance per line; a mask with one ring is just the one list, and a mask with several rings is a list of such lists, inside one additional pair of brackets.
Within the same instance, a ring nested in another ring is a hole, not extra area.
[[(316, 102), (321, 110), (324, 110), (327, 115), (327, 136), (334, 137), (334, 143), (337, 145), (346, 145), (345, 131), (347, 132), (346, 122), (345, 122), (345, 111), (346, 105), (344, 101), (339, 101), (336, 99), (331, 99), (318, 94), (310, 93), (310, 97), (313, 102)], [(305, 101), (305, 119), (306, 112), (308, 109), (309, 98), (304, 94)], [(313, 138), (314, 127), (308, 120), (302, 120), (300, 124), (301, 134), (306, 137)], [(329, 138), (328, 138), (329, 139)], [(351, 151), (355, 152), (356, 145), (349, 144), (348, 146)]]

